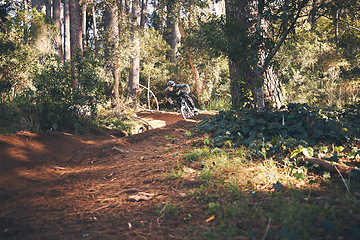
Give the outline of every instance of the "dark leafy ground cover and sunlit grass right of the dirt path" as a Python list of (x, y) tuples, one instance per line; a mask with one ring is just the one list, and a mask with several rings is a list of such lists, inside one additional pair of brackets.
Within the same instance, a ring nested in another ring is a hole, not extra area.
[(190, 194), (206, 223), (189, 231), (202, 239), (359, 239), (358, 111), (290, 104), (204, 118), (186, 135), (207, 137), (177, 153), (177, 168), (164, 176), (199, 182)]

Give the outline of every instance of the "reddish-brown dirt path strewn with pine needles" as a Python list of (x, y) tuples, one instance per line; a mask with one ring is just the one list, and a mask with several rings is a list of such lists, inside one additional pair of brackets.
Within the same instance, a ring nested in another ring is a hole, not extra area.
[[(202, 116), (139, 115), (152, 130), (124, 138), (30, 133), (0, 136), (0, 239), (183, 239), (201, 221), (182, 182), (164, 179), (196, 141)], [(164, 214), (179, 204), (183, 218)], [(179, 219), (183, 219), (180, 221)]]

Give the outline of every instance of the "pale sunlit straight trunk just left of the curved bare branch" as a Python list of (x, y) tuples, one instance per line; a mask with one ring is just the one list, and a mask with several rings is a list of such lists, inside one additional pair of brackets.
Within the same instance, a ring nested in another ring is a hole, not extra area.
[(129, 73), (129, 87), (131, 96), (137, 100), (140, 83), (140, 1), (133, 0), (131, 40), (133, 42), (133, 56)]

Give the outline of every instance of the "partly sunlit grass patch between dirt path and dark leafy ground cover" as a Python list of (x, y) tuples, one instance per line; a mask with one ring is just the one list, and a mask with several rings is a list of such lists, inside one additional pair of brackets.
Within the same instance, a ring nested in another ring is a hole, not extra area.
[(245, 147), (205, 146), (185, 153), (182, 164), (201, 166), (201, 185), (191, 196), (211, 220), (195, 227), (197, 238), (360, 237), (358, 183), (349, 193), (338, 178), (324, 178), (306, 164), (256, 158)]

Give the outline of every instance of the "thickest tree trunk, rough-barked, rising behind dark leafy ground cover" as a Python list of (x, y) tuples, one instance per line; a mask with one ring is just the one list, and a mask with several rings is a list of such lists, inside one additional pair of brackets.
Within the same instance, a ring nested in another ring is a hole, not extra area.
[[(229, 50), (229, 71), (233, 108), (246, 104), (262, 111), (265, 105), (281, 107), (284, 97), (264, 49), (267, 24), (263, 19), (264, 0), (226, 0), (229, 39), (236, 42)], [(237, 29), (238, 33), (233, 34)], [(253, 100), (251, 100), (251, 96)]]

